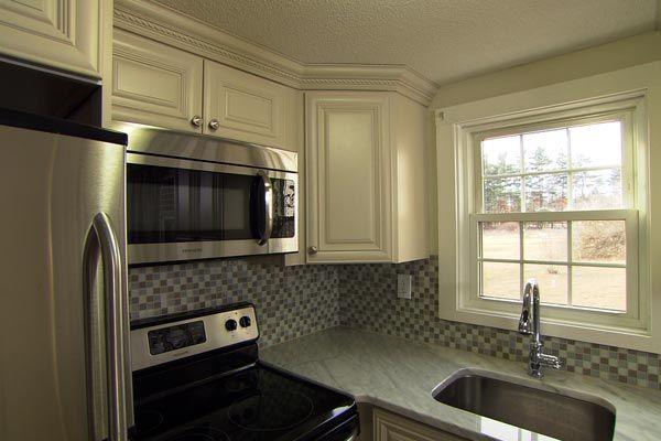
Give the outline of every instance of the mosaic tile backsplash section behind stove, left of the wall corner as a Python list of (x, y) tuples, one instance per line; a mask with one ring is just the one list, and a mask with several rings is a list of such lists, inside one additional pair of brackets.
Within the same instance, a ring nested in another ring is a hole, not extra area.
[(225, 259), (129, 269), (131, 320), (252, 302), (263, 346), (337, 326), (338, 288), (334, 267)]

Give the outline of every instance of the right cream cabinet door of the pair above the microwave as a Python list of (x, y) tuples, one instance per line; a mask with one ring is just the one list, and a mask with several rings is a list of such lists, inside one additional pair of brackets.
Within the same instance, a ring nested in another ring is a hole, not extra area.
[(295, 150), (296, 92), (224, 66), (204, 63), (205, 133)]

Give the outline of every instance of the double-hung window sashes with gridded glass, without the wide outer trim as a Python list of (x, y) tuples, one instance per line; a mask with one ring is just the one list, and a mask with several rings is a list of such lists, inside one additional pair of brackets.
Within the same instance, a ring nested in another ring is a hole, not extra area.
[(519, 301), (534, 278), (549, 305), (636, 308), (627, 283), (637, 254), (627, 252), (636, 243), (627, 233), (636, 236), (638, 222), (627, 114), (474, 137), (479, 297)]

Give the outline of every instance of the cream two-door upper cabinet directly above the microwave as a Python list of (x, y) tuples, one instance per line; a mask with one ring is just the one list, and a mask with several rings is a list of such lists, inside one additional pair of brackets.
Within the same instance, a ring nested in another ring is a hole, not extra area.
[(121, 30), (112, 63), (113, 120), (296, 150), (290, 87)]

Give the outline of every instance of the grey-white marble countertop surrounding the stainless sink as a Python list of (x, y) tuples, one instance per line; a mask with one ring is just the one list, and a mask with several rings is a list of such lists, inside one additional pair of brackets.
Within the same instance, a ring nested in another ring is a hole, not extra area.
[[(459, 369), (488, 370), (496, 377), (565, 395), (589, 395), (616, 409), (614, 440), (657, 441), (661, 433), (661, 391), (564, 370), (546, 369), (541, 380), (514, 363), (466, 351), (411, 342), (348, 327), (334, 327), (267, 347), (260, 358), (317, 383), (429, 426), (472, 440), (530, 439), (523, 430), (443, 405), (432, 390)], [(514, 438), (516, 437), (516, 438)], [(549, 438), (532, 438), (548, 440)]]

